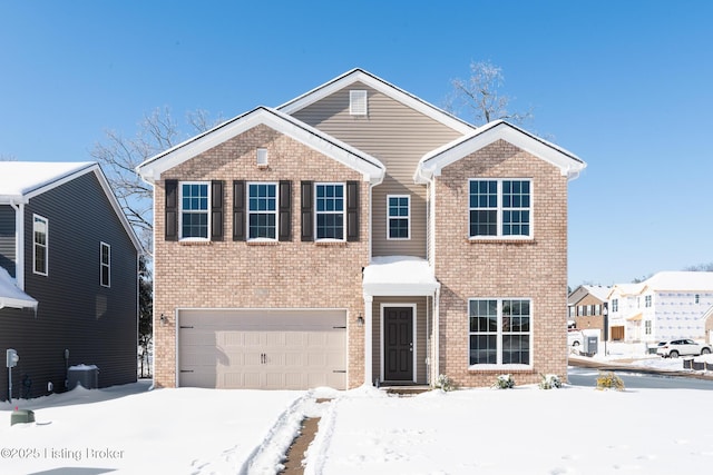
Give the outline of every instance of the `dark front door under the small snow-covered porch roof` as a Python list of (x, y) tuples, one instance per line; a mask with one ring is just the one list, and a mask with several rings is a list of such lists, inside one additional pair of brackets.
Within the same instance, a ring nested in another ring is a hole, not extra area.
[(413, 380), (413, 308), (385, 307), (383, 310), (384, 380)]

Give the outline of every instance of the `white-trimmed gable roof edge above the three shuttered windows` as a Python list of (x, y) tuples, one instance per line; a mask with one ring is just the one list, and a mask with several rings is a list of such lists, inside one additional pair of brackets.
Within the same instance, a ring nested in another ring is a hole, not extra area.
[(258, 125), (265, 125), (328, 157), (361, 172), (373, 184), (383, 179), (385, 167), (377, 158), (344, 144), (275, 109), (257, 107), (219, 126), (158, 154), (136, 167), (146, 181), (160, 179), (160, 174), (236, 137)]

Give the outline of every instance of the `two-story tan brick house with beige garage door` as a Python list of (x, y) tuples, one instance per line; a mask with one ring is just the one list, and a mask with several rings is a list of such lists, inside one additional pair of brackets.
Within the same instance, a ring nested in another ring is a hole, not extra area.
[(566, 375), (567, 182), (585, 164), (361, 69), (141, 164), (159, 386)]

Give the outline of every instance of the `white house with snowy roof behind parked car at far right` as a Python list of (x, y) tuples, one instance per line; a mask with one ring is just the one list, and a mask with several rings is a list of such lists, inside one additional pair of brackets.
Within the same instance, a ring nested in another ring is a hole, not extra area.
[(662, 271), (639, 284), (617, 284), (608, 304), (614, 340), (705, 339), (713, 273)]

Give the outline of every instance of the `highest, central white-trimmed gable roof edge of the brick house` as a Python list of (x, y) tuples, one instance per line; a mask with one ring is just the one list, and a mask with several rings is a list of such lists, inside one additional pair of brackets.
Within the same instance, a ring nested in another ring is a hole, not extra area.
[(410, 107), (460, 133), (470, 133), (476, 129), (473, 125), (468, 123), (449, 112), (446, 112), (445, 110), (431, 105), (430, 102), (427, 102), (423, 99), (418, 98), (412, 93), (404, 91), (403, 89), (392, 85), (391, 82), (388, 82), (361, 68), (354, 68), (351, 71), (346, 71), (343, 75), (332, 79), (331, 81), (323, 83), (322, 86), (318, 86), (311, 91), (305, 92), (302, 96), (299, 96), (295, 99), (283, 103), (282, 106), (279, 106), (277, 110), (287, 115), (293, 115), (296, 111), (304, 109), (305, 107), (321, 99), (324, 99), (325, 97), (355, 82), (361, 82), (365, 86), (369, 86), (370, 88), (383, 93), (384, 96), (388, 96), (391, 99), (394, 99), (403, 103), (404, 106)]

